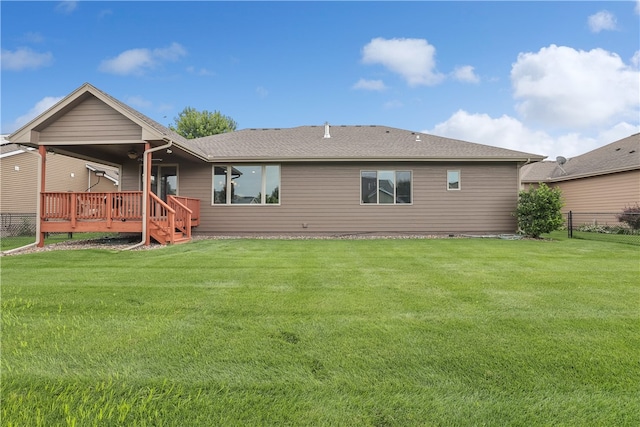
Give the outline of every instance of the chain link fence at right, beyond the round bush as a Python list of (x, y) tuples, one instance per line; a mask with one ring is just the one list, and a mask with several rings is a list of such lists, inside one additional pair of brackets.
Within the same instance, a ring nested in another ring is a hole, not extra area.
[(601, 240), (640, 246), (640, 212), (567, 213), (570, 238)]

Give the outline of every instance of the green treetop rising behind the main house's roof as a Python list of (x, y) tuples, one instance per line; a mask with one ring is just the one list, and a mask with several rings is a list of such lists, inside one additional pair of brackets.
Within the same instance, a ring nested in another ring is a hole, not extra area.
[(211, 113), (207, 110), (198, 111), (192, 107), (186, 107), (173, 120), (175, 126), (169, 125), (169, 129), (187, 139), (233, 132), (238, 126), (235, 120), (219, 111)]

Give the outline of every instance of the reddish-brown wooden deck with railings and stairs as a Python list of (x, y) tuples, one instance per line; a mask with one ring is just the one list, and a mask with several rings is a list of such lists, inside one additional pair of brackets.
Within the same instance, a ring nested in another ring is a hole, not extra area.
[[(143, 192), (45, 192), (41, 194), (40, 232), (142, 233)], [(167, 202), (150, 193), (147, 232), (161, 244), (191, 240), (200, 223), (200, 200), (169, 196)], [(44, 239), (41, 239), (44, 242)]]

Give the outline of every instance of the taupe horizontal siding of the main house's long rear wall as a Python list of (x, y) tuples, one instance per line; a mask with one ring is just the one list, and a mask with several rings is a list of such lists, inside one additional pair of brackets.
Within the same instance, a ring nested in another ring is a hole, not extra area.
[[(362, 205), (361, 170), (411, 170), (411, 205)], [(447, 170), (461, 190), (447, 191)], [(180, 169), (180, 195), (202, 200), (202, 233), (514, 232), (518, 168), (501, 163), (283, 163), (280, 205), (211, 205), (212, 166)], [(306, 224), (306, 228), (303, 226)]]

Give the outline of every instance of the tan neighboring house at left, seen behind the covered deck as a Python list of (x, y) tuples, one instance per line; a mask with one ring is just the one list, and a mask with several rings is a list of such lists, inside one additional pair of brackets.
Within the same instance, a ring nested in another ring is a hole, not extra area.
[[(38, 162), (33, 148), (12, 144), (2, 136), (0, 215), (36, 213)], [(96, 176), (96, 171), (102, 176)], [(117, 191), (118, 175), (111, 166), (47, 154), (47, 191)]]

